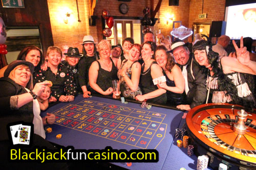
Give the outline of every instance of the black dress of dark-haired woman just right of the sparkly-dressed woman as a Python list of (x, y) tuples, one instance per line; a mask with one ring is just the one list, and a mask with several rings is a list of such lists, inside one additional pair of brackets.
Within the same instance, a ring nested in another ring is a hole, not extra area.
[[(151, 76), (152, 64), (157, 64), (157, 62), (153, 61), (150, 67), (145, 71), (143, 71), (145, 64), (142, 65), (141, 75), (140, 75), (140, 87), (141, 87), (142, 94), (146, 94), (158, 89), (157, 85), (154, 85), (153, 78)], [(164, 94), (161, 94), (160, 96), (157, 96), (156, 98), (148, 99), (147, 102), (156, 103), (156, 104), (165, 104), (166, 100), (167, 100), (167, 96), (166, 96), (166, 93), (164, 93)]]

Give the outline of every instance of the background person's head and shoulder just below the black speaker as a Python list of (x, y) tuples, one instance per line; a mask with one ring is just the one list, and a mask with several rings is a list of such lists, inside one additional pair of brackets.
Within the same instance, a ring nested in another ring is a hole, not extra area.
[(219, 56), (227, 56), (227, 52), (224, 48), (229, 44), (230, 38), (229, 36), (222, 35), (218, 39), (218, 43), (212, 46), (212, 51), (219, 53)]

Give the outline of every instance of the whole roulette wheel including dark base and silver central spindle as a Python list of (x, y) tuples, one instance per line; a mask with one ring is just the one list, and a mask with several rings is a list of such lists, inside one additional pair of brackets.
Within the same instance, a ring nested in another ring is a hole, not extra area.
[(214, 169), (256, 169), (256, 114), (242, 106), (205, 104), (186, 116), (187, 131), (195, 154), (207, 155)]

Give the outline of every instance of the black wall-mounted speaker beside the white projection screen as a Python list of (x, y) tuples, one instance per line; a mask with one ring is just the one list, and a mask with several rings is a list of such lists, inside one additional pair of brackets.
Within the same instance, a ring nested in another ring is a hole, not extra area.
[(226, 21), (212, 21), (210, 28), (210, 37), (220, 37), (225, 35)]

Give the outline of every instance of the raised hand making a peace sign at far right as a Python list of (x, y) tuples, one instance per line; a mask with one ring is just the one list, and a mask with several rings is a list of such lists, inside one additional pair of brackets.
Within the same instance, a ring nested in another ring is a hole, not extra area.
[(234, 42), (234, 40), (232, 40), (232, 43), (234, 45), (234, 48), (236, 48), (238, 61), (241, 64), (248, 66), (250, 62), (250, 54), (246, 50), (246, 47), (244, 47), (243, 36), (240, 38), (240, 48), (238, 47), (236, 42)]

